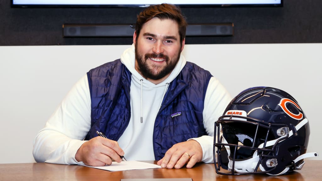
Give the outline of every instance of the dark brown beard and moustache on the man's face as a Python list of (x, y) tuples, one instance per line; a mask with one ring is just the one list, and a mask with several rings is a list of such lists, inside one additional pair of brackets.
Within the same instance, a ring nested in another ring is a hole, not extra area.
[[(167, 55), (163, 53), (156, 54), (156, 53), (147, 53), (143, 55), (138, 53), (137, 50), (137, 43), (135, 44), (135, 59), (137, 60), (137, 68), (138, 71), (145, 79), (152, 79), (152, 80), (159, 80), (171, 73), (173, 69), (175, 69), (176, 64), (179, 61), (181, 52), (178, 51), (178, 55), (173, 57), (171, 60)], [(148, 58), (163, 58), (166, 61), (166, 66), (159, 66), (159, 65), (151, 65), (147, 64)]]

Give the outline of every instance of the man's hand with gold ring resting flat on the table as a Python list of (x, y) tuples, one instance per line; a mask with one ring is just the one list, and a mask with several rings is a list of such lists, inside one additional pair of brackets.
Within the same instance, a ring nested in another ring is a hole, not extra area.
[(187, 168), (192, 168), (203, 157), (203, 151), (200, 144), (195, 140), (173, 145), (165, 156), (157, 162), (162, 168), (181, 168), (187, 164)]

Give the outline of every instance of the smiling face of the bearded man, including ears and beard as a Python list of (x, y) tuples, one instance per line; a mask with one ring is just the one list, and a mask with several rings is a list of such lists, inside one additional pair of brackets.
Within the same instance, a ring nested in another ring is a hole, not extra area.
[(182, 45), (180, 43), (178, 24), (159, 18), (146, 22), (140, 34), (134, 34), (133, 42), (135, 69), (153, 83), (159, 83), (170, 75), (185, 44), (185, 40)]

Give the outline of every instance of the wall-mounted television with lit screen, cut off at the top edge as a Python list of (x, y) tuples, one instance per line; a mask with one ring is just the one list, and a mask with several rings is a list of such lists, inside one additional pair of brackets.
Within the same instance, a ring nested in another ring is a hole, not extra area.
[(283, 0), (11, 0), (11, 7), (146, 7), (161, 3), (181, 7), (279, 7)]

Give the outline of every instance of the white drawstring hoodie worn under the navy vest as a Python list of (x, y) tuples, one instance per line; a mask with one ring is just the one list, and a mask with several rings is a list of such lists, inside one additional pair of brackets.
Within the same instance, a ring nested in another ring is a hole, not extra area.
[[(132, 73), (130, 87), (131, 119), (128, 127), (118, 140), (127, 160), (154, 160), (153, 127), (168, 84), (175, 79), (185, 66), (180, 59), (169, 77), (159, 84), (143, 78), (135, 70), (135, 48), (125, 50), (121, 62)], [(193, 138), (203, 149), (203, 162), (213, 162), (214, 122), (223, 114), (231, 97), (218, 80), (210, 79), (204, 101), (204, 127), (209, 136)], [(37, 162), (57, 164), (79, 164), (75, 154), (85, 142), (90, 130), (90, 91), (87, 75), (83, 76), (61, 105), (37, 134), (33, 144), (33, 156)], [(142, 117), (142, 122), (141, 122)]]

